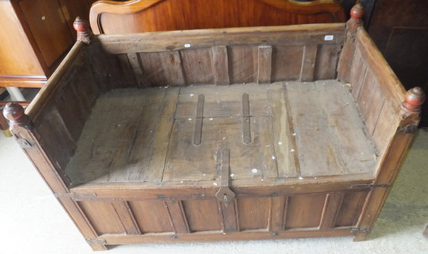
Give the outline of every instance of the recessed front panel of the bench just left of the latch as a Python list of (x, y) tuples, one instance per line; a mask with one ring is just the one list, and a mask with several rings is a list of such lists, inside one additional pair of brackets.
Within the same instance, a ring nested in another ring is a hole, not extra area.
[(183, 210), (190, 232), (222, 230), (217, 200), (183, 200)]

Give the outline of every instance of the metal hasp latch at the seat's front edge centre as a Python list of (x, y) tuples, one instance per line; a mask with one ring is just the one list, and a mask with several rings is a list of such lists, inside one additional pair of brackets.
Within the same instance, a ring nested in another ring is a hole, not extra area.
[(235, 193), (229, 188), (229, 171), (230, 171), (230, 151), (228, 148), (223, 149), (221, 155), (221, 169), (220, 169), (220, 190), (215, 193), (215, 197), (220, 202), (228, 203), (235, 198)]

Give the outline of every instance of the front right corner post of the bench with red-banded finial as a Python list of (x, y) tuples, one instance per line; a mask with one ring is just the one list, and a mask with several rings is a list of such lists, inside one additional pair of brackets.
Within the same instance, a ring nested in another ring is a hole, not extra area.
[(422, 88), (415, 87), (407, 91), (399, 109), (399, 127), (389, 143), (382, 159), (371, 191), (367, 195), (364, 208), (355, 229), (355, 241), (365, 240), (374, 222), (379, 216), (387, 199), (392, 183), (396, 178), (404, 155), (412, 142), (414, 132), (420, 121), (422, 103), (425, 101)]

